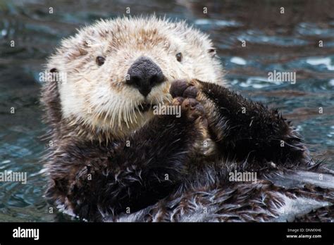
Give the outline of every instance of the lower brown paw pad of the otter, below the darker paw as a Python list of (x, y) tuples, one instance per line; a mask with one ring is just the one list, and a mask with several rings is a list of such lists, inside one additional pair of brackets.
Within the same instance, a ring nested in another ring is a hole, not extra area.
[(196, 99), (176, 97), (173, 99), (173, 105), (181, 106), (181, 116), (185, 116), (191, 121), (197, 118), (204, 119), (204, 107)]

